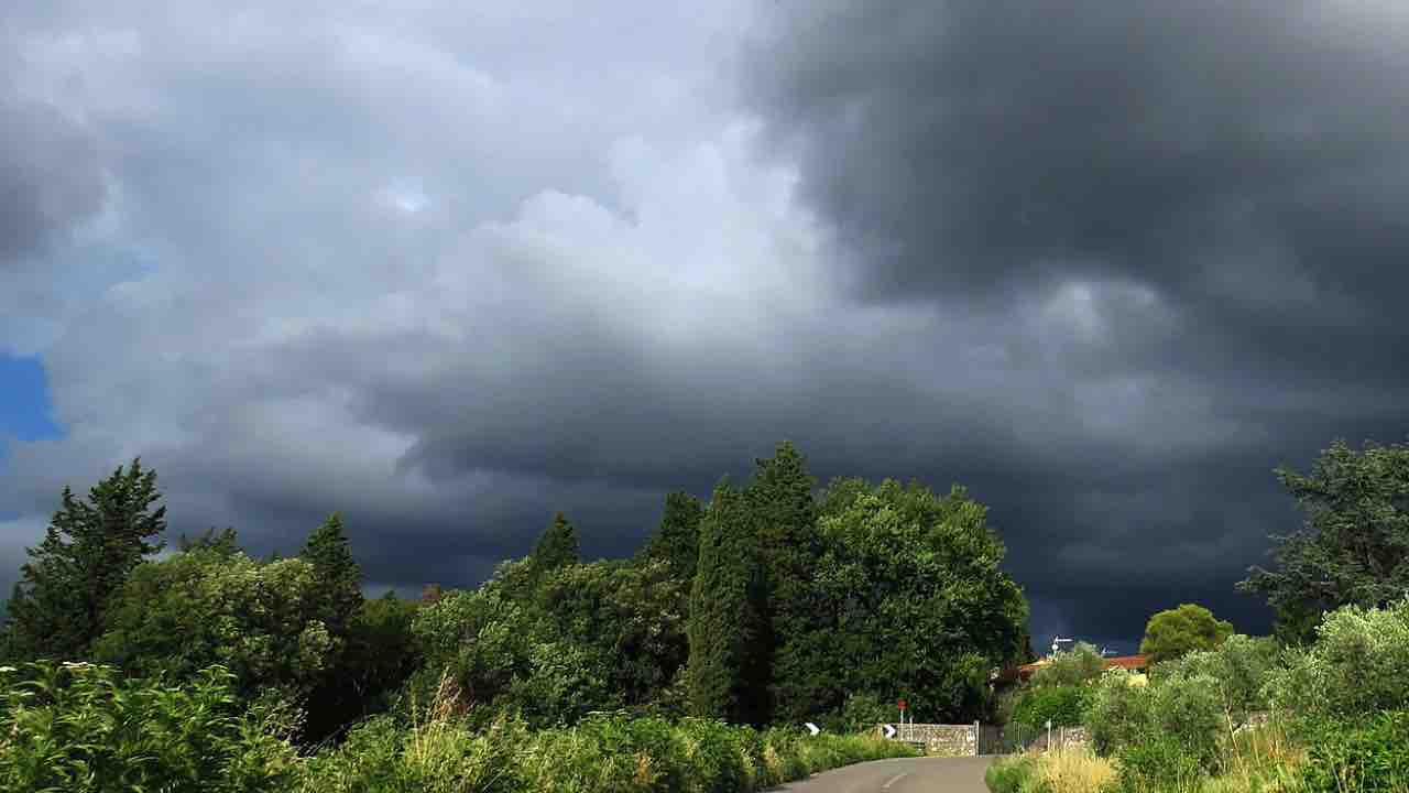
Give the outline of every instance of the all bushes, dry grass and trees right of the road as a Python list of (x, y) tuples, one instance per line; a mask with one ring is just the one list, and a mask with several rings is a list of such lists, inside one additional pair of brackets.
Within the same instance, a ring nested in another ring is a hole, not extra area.
[[(1268, 597), (1277, 635), (1186, 604), (1151, 618), (1146, 686), (1110, 670), (1057, 697), (1034, 677), (1012, 718), (1079, 722), (1089, 746), (995, 762), (991, 790), (1409, 793), (1409, 447), (1336, 443), (1309, 476), (1278, 474), (1306, 525), (1241, 584)], [(1053, 665), (1064, 684), (1084, 652)]]

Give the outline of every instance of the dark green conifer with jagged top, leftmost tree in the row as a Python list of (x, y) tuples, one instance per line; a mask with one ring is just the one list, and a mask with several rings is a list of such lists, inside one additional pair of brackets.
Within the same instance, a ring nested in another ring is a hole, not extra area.
[(108, 600), (128, 573), (162, 549), (151, 542), (166, 529), (156, 471), (141, 459), (100, 481), (86, 501), (63, 488), (62, 507), (10, 598), (7, 629), (11, 658), (80, 659), (103, 632)]

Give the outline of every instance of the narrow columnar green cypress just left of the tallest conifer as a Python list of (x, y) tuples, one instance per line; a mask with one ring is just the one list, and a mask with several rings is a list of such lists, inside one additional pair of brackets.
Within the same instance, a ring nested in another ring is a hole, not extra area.
[(764, 590), (747, 495), (726, 478), (700, 522), (690, 591), (688, 689), (700, 717), (762, 724), (768, 677)]

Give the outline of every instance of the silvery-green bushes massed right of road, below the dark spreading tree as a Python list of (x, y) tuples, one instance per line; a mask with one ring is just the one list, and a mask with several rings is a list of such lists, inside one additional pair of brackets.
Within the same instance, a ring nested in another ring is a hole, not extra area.
[[(1162, 665), (1148, 686), (1109, 672), (1086, 725), (1095, 749), (1116, 759), (1122, 792), (1200, 790), (1210, 775), (1241, 775), (1251, 787), (1240, 790), (1398, 793), (1409, 782), (1406, 646), (1409, 598), (1344, 607), (1306, 648), (1234, 635)], [(1244, 727), (1268, 708), (1272, 725)], [(1250, 769), (1247, 737), (1258, 732), (1270, 732), (1262, 756), (1274, 762)], [(1278, 749), (1282, 741), (1301, 749)]]

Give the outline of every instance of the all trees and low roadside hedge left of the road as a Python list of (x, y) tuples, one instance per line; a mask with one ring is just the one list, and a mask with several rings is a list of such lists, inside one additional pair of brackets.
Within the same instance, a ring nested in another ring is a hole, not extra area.
[(1027, 604), (962, 488), (814, 485), (785, 443), (666, 497), (630, 559), (583, 560), (559, 514), (403, 600), (364, 597), (337, 514), (289, 556), (168, 549), (134, 460), (62, 492), (7, 604), (0, 790), (734, 793), (907, 756), (874, 734), (896, 693), (979, 718)]

